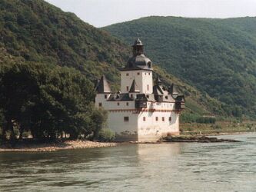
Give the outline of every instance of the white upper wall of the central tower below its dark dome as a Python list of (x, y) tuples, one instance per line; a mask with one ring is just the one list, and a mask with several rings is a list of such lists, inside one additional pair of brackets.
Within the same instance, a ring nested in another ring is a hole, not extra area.
[(136, 84), (138, 85), (140, 93), (151, 94), (153, 92), (152, 71), (135, 70), (135, 71), (121, 71), (121, 92), (122, 93), (127, 93), (130, 90), (132, 81), (134, 79), (136, 81)]

